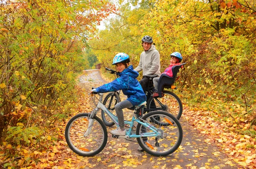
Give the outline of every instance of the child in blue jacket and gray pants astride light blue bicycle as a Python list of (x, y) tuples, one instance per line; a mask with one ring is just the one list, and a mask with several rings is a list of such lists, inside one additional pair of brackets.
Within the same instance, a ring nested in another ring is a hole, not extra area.
[(112, 65), (116, 65), (116, 70), (119, 72), (119, 78), (113, 80), (112, 82), (97, 87), (91, 90), (97, 93), (107, 93), (117, 90), (122, 90), (122, 92), (127, 95), (128, 99), (121, 101), (115, 105), (116, 116), (118, 118), (118, 125), (116, 130), (111, 130), (112, 135), (125, 135), (125, 121), (122, 109), (133, 107), (146, 101), (145, 93), (136, 79), (139, 73), (133, 70), (133, 66), (130, 65), (130, 58), (125, 53), (116, 54), (113, 59)]

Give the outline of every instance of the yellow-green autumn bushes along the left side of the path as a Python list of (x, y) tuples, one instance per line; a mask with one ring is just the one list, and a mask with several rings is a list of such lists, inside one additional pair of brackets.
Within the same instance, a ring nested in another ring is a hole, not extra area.
[(15, 147), (40, 149), (43, 135), (76, 108), (76, 76), (89, 68), (87, 35), (114, 8), (83, 0), (0, 6), (0, 146), (12, 158)]

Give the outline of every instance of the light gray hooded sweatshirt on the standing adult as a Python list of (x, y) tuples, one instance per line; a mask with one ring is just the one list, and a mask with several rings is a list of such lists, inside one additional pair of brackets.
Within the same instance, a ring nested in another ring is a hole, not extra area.
[(143, 51), (140, 54), (140, 63), (134, 70), (137, 72), (143, 70), (143, 76), (160, 76), (160, 54), (154, 45), (151, 45), (148, 51)]

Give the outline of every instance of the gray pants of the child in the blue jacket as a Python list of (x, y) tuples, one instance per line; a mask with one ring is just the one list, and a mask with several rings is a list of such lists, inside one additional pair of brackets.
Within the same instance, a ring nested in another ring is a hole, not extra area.
[(133, 107), (133, 105), (127, 99), (124, 101), (121, 101), (115, 105), (116, 116), (118, 119), (118, 124), (119, 124), (120, 129), (125, 129), (124, 113), (123, 113), (122, 109), (128, 108), (128, 107)]

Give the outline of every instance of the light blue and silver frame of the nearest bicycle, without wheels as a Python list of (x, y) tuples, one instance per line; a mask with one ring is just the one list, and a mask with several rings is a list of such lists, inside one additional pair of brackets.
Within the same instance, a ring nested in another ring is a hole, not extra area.
[[(90, 130), (92, 128), (92, 125), (93, 125), (93, 116), (97, 114), (97, 112), (99, 111), (99, 109), (103, 110), (110, 118), (111, 120), (116, 124), (116, 126), (118, 127), (118, 119), (115, 115), (113, 115), (108, 109), (107, 107), (105, 107), (104, 104), (102, 104), (102, 98), (103, 98), (103, 94), (102, 93), (98, 93), (98, 95), (100, 96), (100, 99), (99, 99), (99, 102), (96, 106), (96, 108), (92, 111), (91, 115), (90, 115), (90, 120), (89, 120), (89, 126), (88, 126), (88, 129), (86, 131), (86, 133), (84, 134), (84, 136), (87, 136), (90, 134)], [(94, 95), (95, 97), (95, 95)], [(93, 101), (94, 104), (95, 101)], [(137, 106), (135, 108), (135, 111), (137, 110)], [(157, 128), (152, 126), (151, 124), (148, 124), (148, 123), (144, 123), (141, 121), (142, 119), (141, 118), (135, 118), (135, 115), (132, 117), (132, 120), (131, 121), (125, 121), (125, 124), (128, 124), (130, 127), (129, 127), (129, 130), (127, 131), (126, 130), (126, 135), (124, 136), (118, 136), (118, 137), (122, 137), (122, 138), (139, 138), (139, 137), (150, 137), (150, 136), (158, 136), (160, 133), (157, 131)], [(140, 135), (136, 135), (136, 134), (131, 134), (131, 131), (132, 131), (132, 128), (133, 128), (133, 125), (134, 125), (134, 121), (136, 121), (137, 123), (140, 123), (142, 124), (145, 128), (148, 128), (150, 130), (152, 130), (153, 132), (148, 132), (148, 133), (141, 133)], [(132, 126), (132, 127), (131, 127)]]

